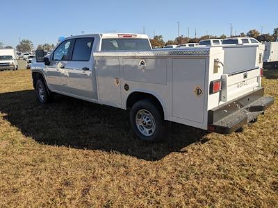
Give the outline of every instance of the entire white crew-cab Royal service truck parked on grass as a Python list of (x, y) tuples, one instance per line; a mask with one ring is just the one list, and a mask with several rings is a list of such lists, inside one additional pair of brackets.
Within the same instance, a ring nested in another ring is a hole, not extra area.
[(55, 92), (130, 110), (131, 127), (145, 141), (163, 138), (165, 120), (229, 134), (274, 102), (263, 96), (261, 49), (248, 47), (237, 64), (225, 64), (222, 47), (152, 50), (139, 34), (67, 37), (47, 57), (36, 51), (33, 87), (40, 103)]

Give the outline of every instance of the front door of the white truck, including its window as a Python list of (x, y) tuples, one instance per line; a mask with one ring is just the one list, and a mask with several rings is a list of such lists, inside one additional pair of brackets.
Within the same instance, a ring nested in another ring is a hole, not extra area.
[(68, 92), (67, 63), (70, 60), (70, 51), (73, 40), (65, 40), (54, 51), (50, 64), (46, 66), (47, 84), (51, 91)]

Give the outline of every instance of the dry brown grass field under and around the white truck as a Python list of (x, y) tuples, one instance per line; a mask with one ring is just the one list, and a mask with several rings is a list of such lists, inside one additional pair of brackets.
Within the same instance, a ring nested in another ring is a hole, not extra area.
[(242, 133), (177, 123), (139, 141), (128, 112), (35, 98), (29, 70), (0, 72), (0, 207), (278, 207), (275, 105)]

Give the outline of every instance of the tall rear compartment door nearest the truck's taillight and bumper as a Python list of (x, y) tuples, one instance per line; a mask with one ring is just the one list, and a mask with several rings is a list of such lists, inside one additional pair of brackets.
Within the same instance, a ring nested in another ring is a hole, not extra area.
[(173, 59), (173, 116), (204, 123), (205, 58)]

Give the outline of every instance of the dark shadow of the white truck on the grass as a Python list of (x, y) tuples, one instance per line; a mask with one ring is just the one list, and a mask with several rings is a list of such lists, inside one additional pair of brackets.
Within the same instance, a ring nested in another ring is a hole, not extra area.
[(33, 90), (0, 94), (0, 111), (25, 136), (42, 144), (116, 151), (149, 161), (206, 142), (206, 131), (177, 123), (168, 123), (163, 141), (140, 141), (131, 130), (128, 111), (58, 95), (49, 105), (40, 105)]

